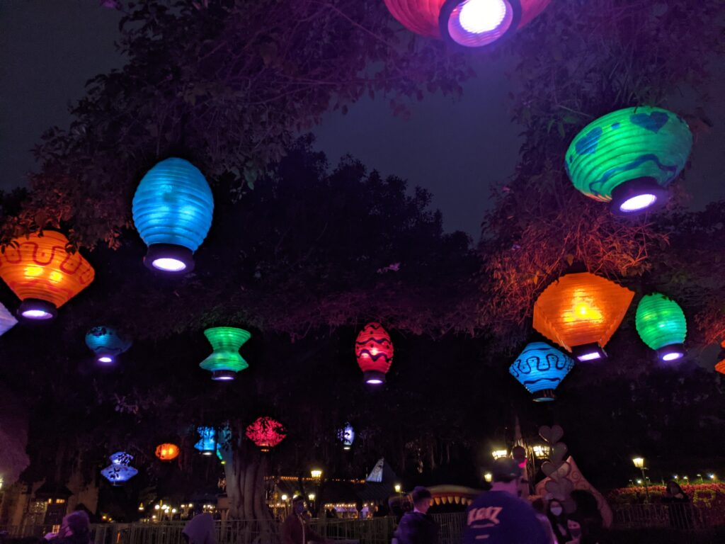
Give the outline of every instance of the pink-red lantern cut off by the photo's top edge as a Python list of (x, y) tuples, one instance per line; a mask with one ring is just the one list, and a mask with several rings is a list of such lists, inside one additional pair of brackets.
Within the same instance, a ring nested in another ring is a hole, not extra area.
[(465, 47), (500, 41), (539, 15), (551, 0), (385, 0), (405, 28)]

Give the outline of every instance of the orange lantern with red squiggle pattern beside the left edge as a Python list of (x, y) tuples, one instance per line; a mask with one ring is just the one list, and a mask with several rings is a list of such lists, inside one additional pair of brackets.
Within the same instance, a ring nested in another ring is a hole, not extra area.
[(0, 278), (22, 300), (18, 312), (24, 318), (54, 318), (94, 279), (93, 267), (79, 252), (65, 250), (68, 239), (59, 232), (33, 233), (13, 244), (0, 253)]

